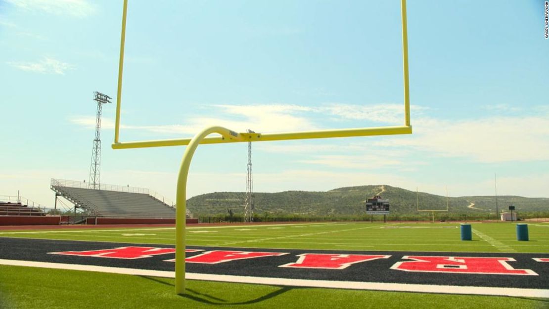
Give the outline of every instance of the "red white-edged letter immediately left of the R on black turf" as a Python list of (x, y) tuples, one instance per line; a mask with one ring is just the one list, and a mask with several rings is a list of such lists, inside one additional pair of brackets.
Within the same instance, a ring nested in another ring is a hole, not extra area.
[(293, 268), (326, 268), (344, 269), (352, 264), (372, 261), (377, 259), (388, 259), (390, 255), (359, 255), (359, 254), (300, 254), (299, 260), (295, 263), (288, 263), (278, 267)]

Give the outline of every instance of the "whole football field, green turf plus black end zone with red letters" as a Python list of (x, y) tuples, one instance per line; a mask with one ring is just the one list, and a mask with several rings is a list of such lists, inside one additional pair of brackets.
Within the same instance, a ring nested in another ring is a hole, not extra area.
[(189, 226), (184, 296), (173, 227), (2, 230), (0, 308), (549, 307), (549, 224), (529, 241), (471, 225), (470, 241), (460, 223)]

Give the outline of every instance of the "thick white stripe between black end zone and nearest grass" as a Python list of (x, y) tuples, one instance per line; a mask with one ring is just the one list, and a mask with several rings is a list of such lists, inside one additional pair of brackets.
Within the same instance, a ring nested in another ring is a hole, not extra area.
[[(133, 276), (153, 276), (153, 277), (163, 277), (163, 278), (175, 278), (175, 272), (154, 271), (154, 270), (137, 269), (137, 268), (74, 265), (74, 264), (65, 264), (65, 263), (33, 262), (33, 261), (2, 260), (2, 259), (0, 259), (0, 265), (129, 274)], [(267, 285), (305, 286), (309, 288), (549, 298), (549, 289), (544, 290), (544, 289), (519, 289), (519, 288), (488, 288), (483, 286), (349, 282), (349, 281), (330, 281), (330, 280), (231, 276), (231, 275), (222, 275), (222, 274), (201, 274), (201, 273), (186, 273), (186, 277), (187, 279), (191, 279), (191, 280), (267, 284)]]

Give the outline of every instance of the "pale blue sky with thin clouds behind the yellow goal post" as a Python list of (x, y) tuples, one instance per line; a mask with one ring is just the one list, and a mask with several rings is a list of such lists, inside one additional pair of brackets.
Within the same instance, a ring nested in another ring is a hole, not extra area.
[[(0, 195), (52, 205), (88, 179), (93, 92), (116, 97), (122, 1), (0, 0)], [(130, 1), (121, 141), (208, 125), (289, 132), (402, 125), (400, 1)], [(253, 144), (254, 189), (388, 184), (547, 197), (543, 1), (410, 1), (411, 136)], [(184, 147), (112, 150), (102, 183), (175, 198)], [(189, 195), (244, 191), (247, 144), (204, 145)]]

